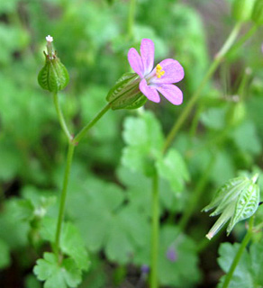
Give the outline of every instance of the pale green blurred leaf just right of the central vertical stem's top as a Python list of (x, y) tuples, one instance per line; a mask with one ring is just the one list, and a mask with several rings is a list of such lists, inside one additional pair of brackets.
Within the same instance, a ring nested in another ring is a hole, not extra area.
[(185, 181), (189, 180), (186, 163), (175, 149), (170, 149), (165, 157), (157, 162), (159, 175), (167, 179), (174, 192), (180, 192), (184, 188)]

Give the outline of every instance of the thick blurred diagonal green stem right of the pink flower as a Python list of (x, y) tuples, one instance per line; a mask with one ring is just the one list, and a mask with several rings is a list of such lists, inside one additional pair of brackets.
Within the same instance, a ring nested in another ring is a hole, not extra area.
[(186, 108), (184, 112), (181, 113), (177, 121), (175, 122), (174, 126), (168, 133), (168, 137), (166, 139), (165, 145), (163, 147), (163, 152), (165, 153), (168, 147), (171, 145), (171, 142), (177, 135), (177, 131), (181, 128), (184, 121), (186, 121), (186, 118), (188, 117), (189, 113), (192, 111), (195, 102), (198, 100), (200, 94), (203, 92), (203, 89), (209, 79), (213, 76), (213, 73), (215, 72), (216, 68), (219, 66), (219, 64), (222, 62), (222, 58), (225, 56), (225, 54), (231, 49), (231, 46), (233, 45), (233, 42), (237, 39), (239, 31), (240, 31), (241, 23), (236, 23), (233, 30), (231, 31), (231, 34), (229, 35), (228, 39), (225, 41), (225, 43), (222, 46), (222, 49), (217, 53), (216, 57), (213, 59), (213, 63), (209, 67), (207, 73), (205, 74), (202, 82), (198, 86), (198, 88), (195, 90), (195, 94), (190, 99), (190, 101), (187, 103)]

